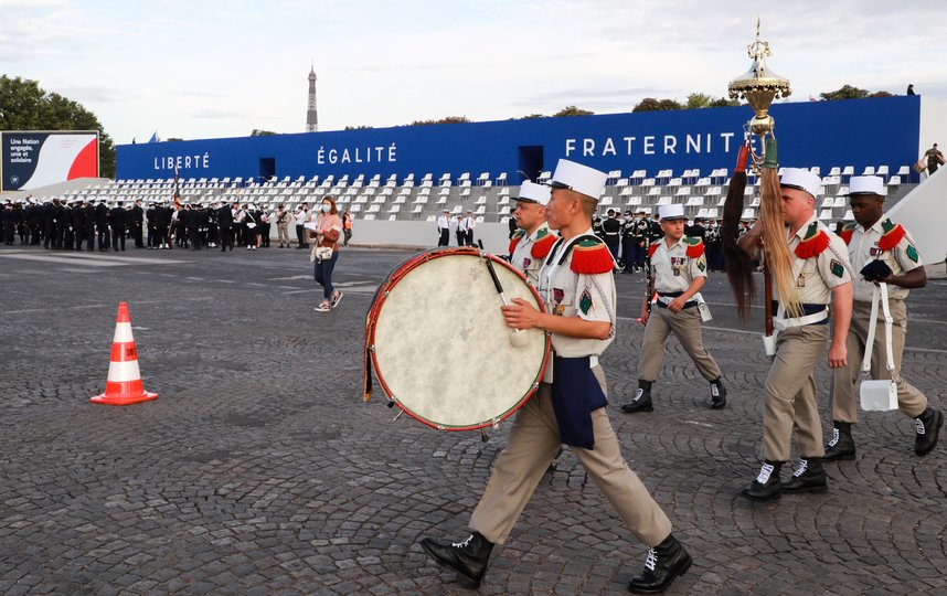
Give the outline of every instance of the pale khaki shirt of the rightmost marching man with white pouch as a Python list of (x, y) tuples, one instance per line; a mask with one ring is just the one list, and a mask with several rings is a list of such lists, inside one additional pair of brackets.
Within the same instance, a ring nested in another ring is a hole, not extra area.
[[(855, 225), (852, 231), (852, 240), (849, 242), (849, 259), (852, 262), (852, 269), (855, 273), (861, 272), (862, 267), (872, 260), (884, 262), (891, 267), (894, 275), (901, 275), (924, 266), (924, 262), (921, 260), (921, 255), (917, 254), (917, 248), (914, 246), (914, 238), (907, 231), (893, 249), (882, 251), (877, 247), (879, 240), (884, 235), (882, 223), (885, 220), (886, 217), (882, 217), (868, 230), (861, 225)], [(873, 288), (874, 283), (865, 281), (864, 277), (855, 275), (853, 280), (855, 300), (871, 302)], [(907, 298), (909, 291), (900, 286), (891, 284), (887, 286), (887, 297), (892, 300), (903, 300)]]

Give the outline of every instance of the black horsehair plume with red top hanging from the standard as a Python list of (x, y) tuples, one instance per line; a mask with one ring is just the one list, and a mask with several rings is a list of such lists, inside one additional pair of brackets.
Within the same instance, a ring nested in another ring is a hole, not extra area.
[(749, 255), (736, 245), (739, 236), (739, 220), (743, 214), (743, 193), (746, 190), (746, 160), (749, 147), (744, 143), (736, 158), (736, 167), (730, 178), (726, 201), (723, 204), (723, 256), (726, 260), (726, 276), (736, 299), (736, 313), (739, 321), (749, 317), (749, 305), (756, 297), (756, 284), (753, 281), (753, 263)]

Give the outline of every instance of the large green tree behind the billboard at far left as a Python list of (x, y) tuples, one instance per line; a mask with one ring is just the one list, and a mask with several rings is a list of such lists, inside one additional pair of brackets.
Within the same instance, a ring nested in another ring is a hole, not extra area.
[(115, 142), (95, 114), (36, 81), (0, 76), (0, 130), (98, 130), (99, 175), (115, 177)]

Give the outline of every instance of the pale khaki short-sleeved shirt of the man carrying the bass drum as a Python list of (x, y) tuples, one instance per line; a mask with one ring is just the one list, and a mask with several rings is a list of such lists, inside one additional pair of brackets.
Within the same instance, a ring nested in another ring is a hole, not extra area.
[[(588, 228), (583, 235), (592, 234)], [(579, 317), (586, 321), (607, 321), (611, 323), (611, 336), (605, 340), (567, 338), (552, 333), (552, 345), (556, 355), (577, 358), (600, 355), (615, 339), (615, 316), (617, 296), (611, 272), (596, 275), (581, 275), (572, 270), (572, 257), (558, 266), (562, 252), (568, 243), (558, 241), (546, 258), (549, 265), (540, 272), (540, 297), (546, 310), (563, 317)]]

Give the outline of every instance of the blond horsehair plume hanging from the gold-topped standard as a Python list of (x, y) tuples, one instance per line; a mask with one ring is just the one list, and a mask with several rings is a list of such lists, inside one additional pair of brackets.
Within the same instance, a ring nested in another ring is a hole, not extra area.
[(789, 251), (786, 238), (786, 224), (783, 221), (783, 193), (779, 190), (779, 175), (776, 159), (776, 138), (766, 139), (766, 152), (760, 168), (759, 221), (763, 224), (763, 259), (769, 270), (776, 295), (791, 317), (802, 315), (802, 305), (796, 289), (792, 265), (796, 256)]

